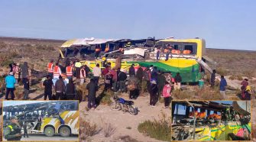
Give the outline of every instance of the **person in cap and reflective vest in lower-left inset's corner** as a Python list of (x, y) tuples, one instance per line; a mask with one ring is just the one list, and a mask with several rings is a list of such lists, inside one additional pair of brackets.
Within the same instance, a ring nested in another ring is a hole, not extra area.
[(21, 140), (21, 128), (18, 126), (18, 118), (11, 116), (11, 124), (5, 127), (5, 139), (8, 141)]

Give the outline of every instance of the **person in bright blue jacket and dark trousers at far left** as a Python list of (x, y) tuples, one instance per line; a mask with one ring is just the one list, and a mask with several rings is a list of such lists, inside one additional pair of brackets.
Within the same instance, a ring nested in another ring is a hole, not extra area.
[(10, 72), (8, 76), (5, 77), (5, 84), (6, 84), (6, 94), (5, 99), (8, 100), (8, 95), (11, 93), (11, 99), (15, 99), (15, 83), (16, 79), (13, 76), (13, 73)]

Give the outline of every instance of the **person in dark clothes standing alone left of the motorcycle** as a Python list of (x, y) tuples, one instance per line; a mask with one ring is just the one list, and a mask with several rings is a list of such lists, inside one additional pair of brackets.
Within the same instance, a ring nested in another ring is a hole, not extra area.
[(94, 79), (91, 79), (87, 84), (86, 89), (88, 89), (88, 108), (95, 109), (96, 108), (96, 92), (98, 90), (98, 86)]

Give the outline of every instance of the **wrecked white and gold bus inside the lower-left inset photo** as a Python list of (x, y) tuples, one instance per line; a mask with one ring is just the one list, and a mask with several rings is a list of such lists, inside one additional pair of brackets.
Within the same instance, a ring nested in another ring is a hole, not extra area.
[(5, 106), (3, 108), (4, 127), (10, 123), (11, 116), (16, 116), (21, 127), (27, 124), (28, 132), (45, 134), (47, 137), (52, 137), (54, 134), (69, 137), (71, 134), (79, 134), (78, 110), (77, 101), (35, 102)]

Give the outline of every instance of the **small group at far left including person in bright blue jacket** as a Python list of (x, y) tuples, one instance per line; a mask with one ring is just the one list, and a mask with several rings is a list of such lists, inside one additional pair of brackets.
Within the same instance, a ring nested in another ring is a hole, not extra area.
[(19, 63), (11, 63), (9, 66), (10, 72), (8, 73), (8, 76), (5, 77), (5, 99), (9, 99), (9, 94), (11, 94), (12, 100), (15, 99), (15, 86), (19, 86), (20, 82), (22, 82), (24, 86), (23, 99), (28, 99), (31, 77), (31, 72), (29, 72), (28, 69), (28, 63), (24, 62), (21, 67)]

